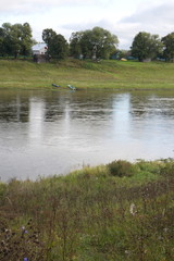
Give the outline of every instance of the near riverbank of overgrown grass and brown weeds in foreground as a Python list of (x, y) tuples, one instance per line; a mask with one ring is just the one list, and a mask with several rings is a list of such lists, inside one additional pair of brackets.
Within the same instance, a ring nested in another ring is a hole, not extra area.
[(174, 161), (0, 184), (0, 260), (174, 260)]

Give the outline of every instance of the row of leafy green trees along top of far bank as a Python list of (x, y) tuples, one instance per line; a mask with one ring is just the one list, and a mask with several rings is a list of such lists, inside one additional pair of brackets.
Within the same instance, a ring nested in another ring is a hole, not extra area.
[[(54, 59), (65, 59), (67, 55), (77, 59), (111, 59), (115, 53), (121, 53), (117, 36), (101, 27), (72, 33), (69, 42), (63, 35), (46, 28), (42, 30), (42, 40), (48, 47), (47, 55)], [(34, 44), (36, 41), (28, 23), (4, 23), (0, 27), (1, 57), (30, 55)], [(138, 61), (157, 58), (174, 61), (174, 33), (160, 38), (159, 35), (140, 32), (134, 37), (129, 54)]]

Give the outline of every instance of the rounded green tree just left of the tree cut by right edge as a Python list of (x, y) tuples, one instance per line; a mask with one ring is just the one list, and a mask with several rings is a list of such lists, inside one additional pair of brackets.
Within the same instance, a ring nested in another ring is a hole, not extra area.
[(163, 45), (158, 35), (140, 32), (134, 38), (132, 55), (138, 58), (140, 62), (145, 59), (154, 59), (158, 53), (162, 52), (162, 47)]

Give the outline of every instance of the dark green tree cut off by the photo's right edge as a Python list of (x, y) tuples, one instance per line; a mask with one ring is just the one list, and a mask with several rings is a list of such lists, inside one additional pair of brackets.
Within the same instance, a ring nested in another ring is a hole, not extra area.
[(164, 45), (163, 57), (174, 62), (174, 32), (164, 36), (161, 41)]

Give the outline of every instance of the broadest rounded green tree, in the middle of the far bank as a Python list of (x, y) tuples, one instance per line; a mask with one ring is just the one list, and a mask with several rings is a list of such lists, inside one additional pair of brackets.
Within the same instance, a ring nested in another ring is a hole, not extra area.
[(84, 58), (109, 59), (116, 50), (117, 37), (101, 27), (94, 27), (91, 30), (76, 32), (70, 39), (71, 54)]

